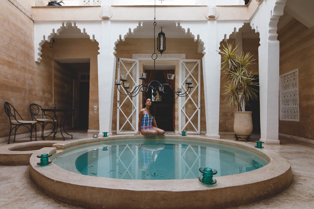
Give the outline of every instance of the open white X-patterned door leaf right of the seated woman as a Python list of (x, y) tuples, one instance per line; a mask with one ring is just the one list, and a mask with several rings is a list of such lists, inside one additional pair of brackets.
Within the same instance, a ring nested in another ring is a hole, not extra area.
[(187, 90), (186, 80), (192, 78), (193, 88), (186, 97), (179, 98), (179, 131), (200, 134), (201, 66), (200, 60), (180, 60), (179, 82), (182, 92)]

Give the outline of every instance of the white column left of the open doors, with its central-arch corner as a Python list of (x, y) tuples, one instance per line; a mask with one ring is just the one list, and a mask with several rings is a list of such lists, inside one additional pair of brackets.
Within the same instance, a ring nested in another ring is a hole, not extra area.
[[(103, 20), (101, 24), (101, 45), (98, 60), (98, 98), (99, 98), (99, 131), (112, 134), (112, 108), (114, 79), (116, 73), (116, 44), (124, 41), (128, 32), (140, 27), (135, 21), (111, 22)], [(121, 40), (120, 40), (121, 38)]]

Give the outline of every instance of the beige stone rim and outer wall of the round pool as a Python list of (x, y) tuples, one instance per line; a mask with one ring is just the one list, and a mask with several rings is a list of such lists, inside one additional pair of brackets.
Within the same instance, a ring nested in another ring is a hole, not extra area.
[(37, 187), (60, 201), (88, 208), (222, 208), (258, 201), (287, 188), (292, 182), (291, 166), (273, 150), (256, 149), (252, 143), (226, 140), (165, 136), (167, 139), (206, 141), (245, 149), (268, 159), (269, 164), (249, 172), (215, 177), (217, 185), (208, 187), (198, 179), (123, 180), (73, 173), (51, 163), (38, 166), (38, 154), (55, 154), (57, 148), (73, 147), (90, 141), (143, 139), (143, 136), (112, 136), (58, 142), (54, 147), (34, 150), (30, 157), (30, 177)]

